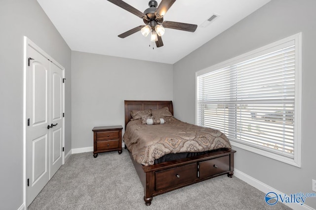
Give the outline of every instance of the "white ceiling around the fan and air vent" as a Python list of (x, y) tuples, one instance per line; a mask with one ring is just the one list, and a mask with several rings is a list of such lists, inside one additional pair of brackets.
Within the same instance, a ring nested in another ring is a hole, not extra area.
[[(143, 12), (149, 0), (124, 0)], [(158, 4), (161, 0), (157, 0)], [(195, 32), (165, 29), (164, 46), (153, 50), (150, 36), (121, 34), (144, 22), (107, 0), (38, 0), (71, 50), (173, 64), (270, 0), (177, 0), (164, 21), (196, 24)], [(219, 15), (206, 28), (200, 25)]]

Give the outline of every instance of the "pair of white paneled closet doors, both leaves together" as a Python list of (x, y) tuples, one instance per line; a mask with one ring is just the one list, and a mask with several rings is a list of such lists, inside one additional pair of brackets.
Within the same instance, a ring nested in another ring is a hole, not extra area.
[(27, 206), (63, 164), (64, 71), (35, 49), (28, 46)]

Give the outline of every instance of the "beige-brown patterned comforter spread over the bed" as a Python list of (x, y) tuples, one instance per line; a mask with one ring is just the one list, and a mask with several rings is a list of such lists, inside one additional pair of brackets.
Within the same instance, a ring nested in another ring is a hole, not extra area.
[(153, 165), (155, 159), (169, 153), (231, 149), (229, 140), (219, 130), (175, 118), (156, 125), (142, 124), (141, 120), (129, 121), (123, 140), (134, 160), (146, 166)]

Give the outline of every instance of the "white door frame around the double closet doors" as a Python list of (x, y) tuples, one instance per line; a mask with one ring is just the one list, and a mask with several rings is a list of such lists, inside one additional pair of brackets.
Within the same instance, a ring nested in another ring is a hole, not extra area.
[[(51, 58), (47, 53), (45, 53), (39, 46), (37, 46), (34, 42), (32, 42), (28, 37), (24, 36), (24, 53), (23, 53), (23, 205), (24, 208), (20, 209), (27, 209), (27, 202), (26, 202), (26, 188), (27, 188), (27, 174), (26, 174), (26, 140), (27, 140), (27, 70), (28, 70), (28, 47), (32, 47), (36, 51), (38, 51), (42, 56), (53, 62), (59, 68), (63, 70), (63, 78), (65, 78), (65, 68), (60, 65), (56, 60)], [(63, 85), (63, 110), (65, 111), (65, 85)], [(62, 147), (65, 147), (65, 118), (63, 118), (63, 136), (62, 136)], [(63, 163), (65, 163), (65, 151), (62, 152), (62, 159)]]

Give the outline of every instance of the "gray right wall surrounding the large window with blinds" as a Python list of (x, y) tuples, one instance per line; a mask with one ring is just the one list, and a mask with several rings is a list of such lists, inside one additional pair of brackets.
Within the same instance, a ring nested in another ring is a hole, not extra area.
[[(234, 148), (236, 169), (286, 194), (313, 192), (312, 179), (316, 179), (315, 9), (315, 0), (272, 0), (174, 64), (175, 117), (195, 123), (198, 70), (302, 31), (302, 167)], [(307, 198), (305, 204), (316, 208), (316, 199)]]

